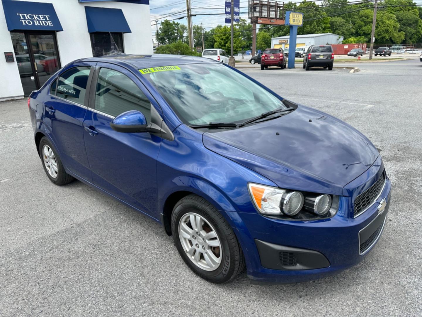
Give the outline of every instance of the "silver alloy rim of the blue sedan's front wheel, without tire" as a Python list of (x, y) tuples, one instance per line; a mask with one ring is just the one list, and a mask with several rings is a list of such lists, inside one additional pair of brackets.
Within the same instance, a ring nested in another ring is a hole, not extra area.
[(221, 243), (214, 227), (197, 213), (186, 213), (179, 221), (179, 238), (189, 259), (205, 271), (216, 270), (222, 260)]

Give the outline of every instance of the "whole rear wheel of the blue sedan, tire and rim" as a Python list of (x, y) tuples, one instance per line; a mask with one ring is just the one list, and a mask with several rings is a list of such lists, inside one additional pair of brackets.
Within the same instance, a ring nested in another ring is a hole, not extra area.
[[(49, 150), (51, 150), (51, 152)], [(54, 148), (54, 145), (52, 145), (46, 137), (43, 137), (40, 141), (39, 152), (44, 171), (51, 182), (56, 185), (65, 185), (75, 180), (75, 178), (66, 173), (65, 167), (63, 166), (62, 160), (60, 159), (56, 148)], [(53, 156), (51, 156), (51, 153)], [(57, 169), (56, 175), (54, 173), (55, 169)]]

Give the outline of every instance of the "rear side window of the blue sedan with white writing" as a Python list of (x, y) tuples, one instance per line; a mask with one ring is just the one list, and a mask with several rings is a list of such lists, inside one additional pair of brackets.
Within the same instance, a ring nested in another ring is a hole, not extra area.
[(83, 105), (91, 67), (74, 67), (59, 77), (56, 96)]

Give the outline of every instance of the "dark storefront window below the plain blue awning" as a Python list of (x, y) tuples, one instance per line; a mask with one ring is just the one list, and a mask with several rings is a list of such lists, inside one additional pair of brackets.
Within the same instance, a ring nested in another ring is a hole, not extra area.
[(94, 57), (122, 54), (124, 52), (122, 33), (91, 33), (91, 46)]

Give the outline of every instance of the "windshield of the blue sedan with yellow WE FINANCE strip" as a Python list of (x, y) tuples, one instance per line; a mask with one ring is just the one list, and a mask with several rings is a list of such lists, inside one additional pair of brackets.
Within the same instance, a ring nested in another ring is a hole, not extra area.
[(243, 122), (270, 110), (287, 109), (273, 94), (219, 63), (163, 68), (141, 73), (187, 125)]

